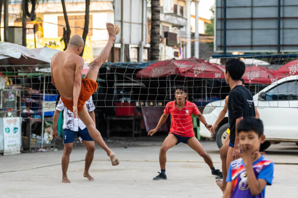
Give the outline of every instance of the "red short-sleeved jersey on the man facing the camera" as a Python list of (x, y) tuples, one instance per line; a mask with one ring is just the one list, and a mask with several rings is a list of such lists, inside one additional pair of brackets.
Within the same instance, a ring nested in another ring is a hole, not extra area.
[(182, 110), (176, 107), (176, 100), (168, 102), (164, 110), (165, 114), (171, 114), (172, 123), (169, 133), (174, 133), (183, 137), (195, 136), (192, 128), (192, 117), (193, 115), (200, 114), (198, 107), (187, 100), (185, 100), (185, 106)]

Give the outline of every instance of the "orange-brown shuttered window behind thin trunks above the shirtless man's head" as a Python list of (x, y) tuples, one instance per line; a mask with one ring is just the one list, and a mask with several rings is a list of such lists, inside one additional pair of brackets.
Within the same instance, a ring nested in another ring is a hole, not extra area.
[[(68, 16), (69, 25), (71, 26), (72, 35), (83, 35), (83, 28), (85, 24), (85, 15)], [(58, 16), (58, 24), (65, 25), (64, 16)], [(74, 28), (80, 27), (80, 28)], [(92, 15), (89, 15), (89, 28), (92, 28)], [(63, 26), (58, 26), (58, 37), (63, 36)], [(88, 36), (92, 36), (92, 30), (88, 30)]]

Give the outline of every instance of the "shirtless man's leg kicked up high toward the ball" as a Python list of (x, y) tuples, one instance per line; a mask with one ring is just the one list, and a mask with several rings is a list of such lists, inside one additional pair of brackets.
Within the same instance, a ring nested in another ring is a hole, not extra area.
[(112, 49), (112, 46), (113, 46), (113, 43), (116, 40), (116, 33), (115, 33), (115, 29), (114, 29), (114, 24), (107, 23), (106, 25), (107, 25), (107, 30), (108, 30), (108, 33), (109, 33), (108, 43), (105, 46), (105, 48), (101, 51), (99, 56), (94, 59), (93, 63), (89, 67), (89, 70), (88, 70), (87, 74), (84, 77), (86, 79), (91, 79), (95, 82), (96, 82), (96, 79), (97, 79), (99, 68), (102, 64), (104, 64), (106, 62), (106, 60), (108, 60), (111, 49)]

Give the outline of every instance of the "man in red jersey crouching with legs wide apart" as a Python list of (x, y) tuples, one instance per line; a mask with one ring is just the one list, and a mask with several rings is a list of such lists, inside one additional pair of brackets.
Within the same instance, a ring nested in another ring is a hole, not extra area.
[(207, 129), (210, 129), (212, 125), (207, 124), (205, 117), (200, 113), (198, 107), (186, 100), (186, 89), (185, 87), (177, 87), (175, 91), (176, 100), (168, 102), (164, 110), (164, 114), (160, 117), (159, 122), (155, 129), (148, 132), (148, 135), (153, 135), (158, 129), (165, 123), (168, 115), (171, 114), (171, 129), (168, 136), (163, 142), (159, 152), (159, 164), (161, 172), (159, 175), (154, 177), (153, 180), (166, 180), (166, 162), (167, 162), (167, 150), (172, 148), (174, 145), (182, 142), (187, 144), (194, 151), (199, 153), (204, 158), (205, 163), (210, 167), (212, 175), (222, 176), (223, 173), (219, 169), (215, 169), (213, 166), (212, 159), (206, 153), (198, 139), (195, 137), (192, 117), (198, 115), (201, 122)]

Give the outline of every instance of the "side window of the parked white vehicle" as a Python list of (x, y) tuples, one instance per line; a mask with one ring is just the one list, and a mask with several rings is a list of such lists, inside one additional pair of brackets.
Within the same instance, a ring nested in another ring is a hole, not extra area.
[(298, 82), (279, 84), (266, 93), (266, 100), (298, 100)]

